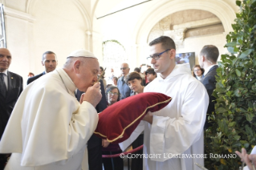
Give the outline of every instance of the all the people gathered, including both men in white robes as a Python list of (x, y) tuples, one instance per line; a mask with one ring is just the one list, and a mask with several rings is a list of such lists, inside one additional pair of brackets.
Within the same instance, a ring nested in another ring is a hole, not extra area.
[[(149, 47), (153, 68), (148, 66), (141, 73), (141, 65), (130, 72), (128, 63), (122, 63), (122, 75), (112, 75), (112, 84), (106, 83), (104, 68), (90, 51), (71, 52), (62, 68), (56, 68), (57, 55), (46, 51), (42, 56), (45, 71), (29, 74), (24, 90), (22, 77), (8, 71), (10, 51), (0, 48), (0, 169), (101, 170), (104, 165), (105, 170), (123, 170), (120, 157), (102, 159), (102, 154), (119, 154), (142, 144), (143, 151), (135, 154), (156, 156), (132, 159), (132, 170), (204, 166), (203, 157), (170, 154), (205, 153), (203, 131), (209, 127), (206, 114), (214, 111), (219, 51), (213, 45), (202, 47), (199, 65), (191, 75), (189, 63), (176, 63), (172, 38), (161, 36)], [(162, 93), (173, 100), (161, 111), (149, 111), (120, 144), (93, 135), (98, 113), (143, 92)], [(237, 154), (252, 169), (255, 155), (244, 150)]]

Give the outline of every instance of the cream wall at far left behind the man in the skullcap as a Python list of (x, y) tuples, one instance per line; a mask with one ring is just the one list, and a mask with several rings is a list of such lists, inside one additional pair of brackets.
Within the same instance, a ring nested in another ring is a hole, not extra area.
[(25, 2), (6, 2), (5, 10), (7, 48), (13, 55), (9, 70), (22, 75), (24, 82), (28, 72), (37, 75), (44, 71), (41, 59), (45, 51), (54, 51), (58, 67), (62, 67), (71, 51), (92, 50), (91, 35), (87, 34), (91, 18), (79, 1)]

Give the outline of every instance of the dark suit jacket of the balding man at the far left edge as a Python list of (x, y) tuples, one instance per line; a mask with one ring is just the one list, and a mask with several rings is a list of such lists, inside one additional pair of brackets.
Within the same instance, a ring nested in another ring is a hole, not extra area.
[(11, 111), (23, 90), (23, 79), (20, 75), (7, 71), (8, 91), (6, 98), (0, 94), (0, 139), (6, 128)]

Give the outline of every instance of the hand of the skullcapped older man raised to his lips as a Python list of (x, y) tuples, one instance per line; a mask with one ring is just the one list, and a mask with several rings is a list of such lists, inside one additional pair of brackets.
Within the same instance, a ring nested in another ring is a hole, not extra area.
[(83, 97), (83, 101), (87, 101), (91, 103), (92, 106), (96, 107), (96, 105), (100, 102), (102, 97), (100, 92), (100, 83), (95, 83), (92, 87), (88, 87), (86, 93), (81, 96)]

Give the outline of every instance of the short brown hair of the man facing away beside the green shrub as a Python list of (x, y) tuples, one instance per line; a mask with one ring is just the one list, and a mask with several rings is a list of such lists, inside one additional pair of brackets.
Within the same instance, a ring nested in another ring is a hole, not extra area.
[(201, 49), (200, 56), (205, 56), (211, 63), (217, 63), (219, 51), (213, 45), (206, 45)]

